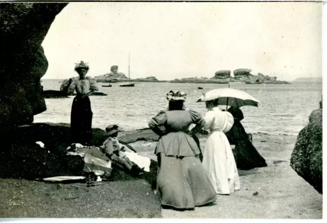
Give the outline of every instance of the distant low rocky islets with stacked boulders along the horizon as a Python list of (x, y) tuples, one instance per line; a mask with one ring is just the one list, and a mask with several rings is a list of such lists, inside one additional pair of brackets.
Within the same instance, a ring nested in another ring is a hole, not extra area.
[(156, 77), (146, 77), (146, 78), (136, 78), (129, 79), (124, 73), (118, 72), (118, 66), (111, 66), (110, 73), (96, 76), (95, 79), (97, 82), (103, 83), (116, 83), (116, 82), (169, 82), (169, 83), (217, 83), (217, 84), (226, 84), (226, 83), (246, 83), (246, 84), (290, 84), (287, 81), (276, 80), (276, 77), (270, 77), (268, 75), (263, 75), (258, 73), (258, 75), (251, 74), (250, 69), (237, 69), (233, 71), (234, 76), (231, 76), (230, 70), (220, 70), (215, 73), (212, 78), (182, 78), (175, 80), (158, 80)]

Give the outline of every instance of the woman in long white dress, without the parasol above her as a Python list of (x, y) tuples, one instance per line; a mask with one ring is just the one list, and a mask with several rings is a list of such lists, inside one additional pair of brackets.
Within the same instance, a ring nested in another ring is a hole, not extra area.
[(233, 116), (218, 108), (218, 100), (207, 101), (204, 129), (210, 133), (203, 151), (202, 165), (209, 174), (217, 194), (228, 195), (240, 190), (240, 179), (235, 159), (224, 132), (233, 125)]

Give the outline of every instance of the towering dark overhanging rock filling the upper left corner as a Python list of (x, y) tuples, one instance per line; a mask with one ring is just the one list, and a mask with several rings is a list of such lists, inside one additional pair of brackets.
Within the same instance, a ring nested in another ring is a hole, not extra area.
[(33, 122), (46, 110), (40, 78), (48, 69), (41, 43), (67, 3), (1, 3), (0, 128)]

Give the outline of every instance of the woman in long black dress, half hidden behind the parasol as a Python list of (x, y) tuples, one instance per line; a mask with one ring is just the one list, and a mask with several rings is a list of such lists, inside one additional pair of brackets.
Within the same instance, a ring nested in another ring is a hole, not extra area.
[(242, 110), (237, 107), (230, 107), (228, 112), (234, 118), (234, 124), (231, 129), (226, 132), (226, 136), (230, 144), (235, 145), (235, 161), (239, 169), (253, 169), (256, 167), (266, 167), (266, 160), (256, 151), (251, 143), (241, 120), (244, 119)]

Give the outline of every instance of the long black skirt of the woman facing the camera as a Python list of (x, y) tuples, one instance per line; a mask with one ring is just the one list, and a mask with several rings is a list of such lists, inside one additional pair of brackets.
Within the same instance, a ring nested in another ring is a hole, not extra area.
[(76, 96), (72, 105), (71, 135), (73, 143), (88, 144), (92, 139), (92, 110), (88, 96)]

